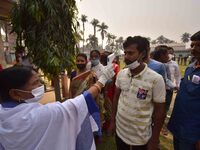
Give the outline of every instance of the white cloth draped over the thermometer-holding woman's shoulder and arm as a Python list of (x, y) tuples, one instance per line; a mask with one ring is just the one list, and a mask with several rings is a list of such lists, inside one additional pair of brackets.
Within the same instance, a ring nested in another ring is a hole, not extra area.
[(88, 102), (80, 95), (63, 103), (0, 105), (0, 150), (95, 150), (98, 126)]

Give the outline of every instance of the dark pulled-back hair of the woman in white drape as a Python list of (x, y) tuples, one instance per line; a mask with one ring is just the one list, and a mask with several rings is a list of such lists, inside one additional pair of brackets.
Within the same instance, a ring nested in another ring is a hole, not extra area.
[(10, 67), (0, 72), (0, 99), (11, 100), (9, 91), (21, 89), (32, 77), (32, 70), (28, 67)]

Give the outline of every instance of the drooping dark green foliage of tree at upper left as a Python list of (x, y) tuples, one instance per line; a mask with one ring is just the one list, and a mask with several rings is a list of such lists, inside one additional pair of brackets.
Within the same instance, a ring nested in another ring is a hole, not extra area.
[(74, 66), (80, 39), (77, 13), (75, 0), (19, 0), (11, 12), (17, 47), (24, 41), (34, 64), (48, 77)]

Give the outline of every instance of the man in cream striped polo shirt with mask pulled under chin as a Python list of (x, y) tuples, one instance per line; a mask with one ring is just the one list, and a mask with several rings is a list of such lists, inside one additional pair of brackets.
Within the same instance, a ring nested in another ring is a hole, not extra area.
[(123, 44), (126, 68), (116, 79), (110, 131), (116, 125), (117, 150), (156, 150), (165, 118), (163, 77), (143, 62), (149, 41), (128, 37)]

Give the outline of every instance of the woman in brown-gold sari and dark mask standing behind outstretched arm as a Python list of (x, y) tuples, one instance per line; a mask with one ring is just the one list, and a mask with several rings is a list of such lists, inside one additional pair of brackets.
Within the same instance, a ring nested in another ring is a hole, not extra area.
[(70, 97), (74, 98), (83, 91), (89, 89), (94, 83), (96, 83), (97, 78), (93, 71), (86, 69), (87, 65), (87, 55), (79, 53), (76, 56), (76, 66), (77, 70), (71, 74), (71, 84), (70, 84)]

